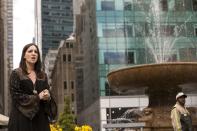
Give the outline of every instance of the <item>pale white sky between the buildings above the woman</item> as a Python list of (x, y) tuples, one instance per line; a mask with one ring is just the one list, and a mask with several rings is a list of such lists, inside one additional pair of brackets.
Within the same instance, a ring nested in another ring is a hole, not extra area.
[(34, 37), (34, 0), (13, 1), (13, 62), (17, 68), (24, 45)]

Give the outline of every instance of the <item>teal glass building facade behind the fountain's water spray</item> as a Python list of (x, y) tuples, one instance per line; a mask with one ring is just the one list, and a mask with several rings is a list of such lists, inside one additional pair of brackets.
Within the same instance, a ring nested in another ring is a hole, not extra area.
[(97, 0), (100, 95), (117, 67), (196, 61), (195, 0)]

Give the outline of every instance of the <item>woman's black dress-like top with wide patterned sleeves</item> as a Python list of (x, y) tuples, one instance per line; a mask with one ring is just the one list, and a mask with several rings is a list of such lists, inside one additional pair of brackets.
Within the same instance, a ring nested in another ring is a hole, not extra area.
[[(33, 93), (33, 89), (37, 94)], [(50, 131), (46, 107), (50, 101), (40, 100), (38, 94), (49, 89), (47, 77), (36, 79), (35, 84), (20, 68), (12, 71), (10, 93), (12, 109), (8, 131)]]

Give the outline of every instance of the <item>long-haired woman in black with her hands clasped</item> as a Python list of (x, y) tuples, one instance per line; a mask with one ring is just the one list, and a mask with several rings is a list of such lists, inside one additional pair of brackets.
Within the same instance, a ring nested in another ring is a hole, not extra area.
[(19, 68), (10, 76), (12, 109), (8, 131), (50, 131), (51, 94), (42, 71), (38, 46), (24, 46)]

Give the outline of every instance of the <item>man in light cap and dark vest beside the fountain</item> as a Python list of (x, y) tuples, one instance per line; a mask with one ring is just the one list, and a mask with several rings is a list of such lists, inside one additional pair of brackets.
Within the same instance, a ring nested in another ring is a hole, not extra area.
[(192, 131), (192, 119), (189, 111), (185, 107), (185, 95), (179, 92), (176, 95), (176, 104), (171, 111), (172, 126), (174, 131)]

